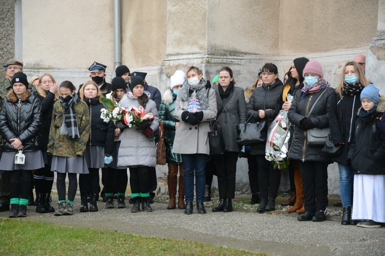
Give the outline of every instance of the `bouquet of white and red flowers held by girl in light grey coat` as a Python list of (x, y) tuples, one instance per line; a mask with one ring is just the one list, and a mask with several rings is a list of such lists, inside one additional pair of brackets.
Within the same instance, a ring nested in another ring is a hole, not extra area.
[[(144, 132), (148, 127), (150, 127), (154, 119), (152, 113), (146, 113), (143, 106), (140, 106), (139, 109), (136, 108), (136, 106), (130, 106), (126, 109), (107, 98), (102, 98), (101, 101), (105, 106), (105, 109), (101, 110), (100, 117), (104, 122), (109, 122), (111, 120), (115, 124), (122, 122), (128, 127), (135, 126), (135, 130)], [(152, 134), (147, 137), (150, 141), (154, 140), (154, 136)]]

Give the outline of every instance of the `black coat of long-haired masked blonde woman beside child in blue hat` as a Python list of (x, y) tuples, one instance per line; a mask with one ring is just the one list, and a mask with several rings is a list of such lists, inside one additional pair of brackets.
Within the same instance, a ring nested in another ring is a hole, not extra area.
[(333, 142), (345, 143), (341, 146), (341, 153), (332, 157), (332, 160), (341, 165), (348, 165), (348, 151), (352, 143), (354, 123), (358, 118), (357, 111), (361, 107), (361, 91), (355, 96), (343, 95), (342, 98), (336, 94), (337, 104), (331, 106), (329, 125)]

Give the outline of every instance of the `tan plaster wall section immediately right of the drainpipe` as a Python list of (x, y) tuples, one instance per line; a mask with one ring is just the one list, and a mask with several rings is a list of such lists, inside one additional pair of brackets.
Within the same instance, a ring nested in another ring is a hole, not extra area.
[(167, 0), (121, 3), (122, 63), (129, 68), (160, 66), (166, 55)]

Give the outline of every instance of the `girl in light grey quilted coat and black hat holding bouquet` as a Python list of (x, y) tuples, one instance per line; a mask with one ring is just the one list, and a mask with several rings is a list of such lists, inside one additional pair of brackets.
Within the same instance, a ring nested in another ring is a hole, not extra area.
[(152, 116), (153, 120), (152, 122), (143, 122), (148, 124), (144, 127), (135, 127), (131, 124), (133, 122), (132, 116), (128, 113), (124, 120), (118, 123), (118, 128), (123, 130), (118, 153), (118, 166), (125, 166), (130, 169), (131, 197), (133, 200), (131, 212), (140, 211), (140, 200), (145, 211), (152, 211), (149, 204), (148, 170), (149, 167), (157, 165), (155, 141), (151, 136), (153, 131), (159, 129), (158, 110), (156, 103), (149, 98), (148, 92), (144, 91), (142, 78), (138, 76), (131, 78), (129, 87), (131, 92), (128, 93), (126, 99), (121, 101), (120, 106), (128, 110), (135, 108), (134, 113), (141, 116), (141, 120), (145, 119), (146, 115)]

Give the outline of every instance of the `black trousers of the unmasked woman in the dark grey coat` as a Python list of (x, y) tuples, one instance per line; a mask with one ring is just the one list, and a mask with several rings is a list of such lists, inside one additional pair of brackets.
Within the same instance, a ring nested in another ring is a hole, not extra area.
[(238, 152), (226, 151), (223, 155), (214, 156), (213, 158), (217, 168), (219, 197), (234, 199)]

